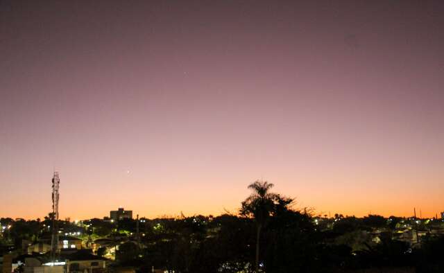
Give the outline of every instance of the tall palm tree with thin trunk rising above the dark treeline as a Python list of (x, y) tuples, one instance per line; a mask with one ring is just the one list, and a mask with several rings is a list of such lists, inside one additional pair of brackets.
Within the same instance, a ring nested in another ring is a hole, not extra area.
[(241, 215), (253, 216), (257, 224), (256, 234), (256, 272), (259, 272), (259, 239), (261, 230), (264, 227), (267, 218), (275, 209), (275, 200), (279, 199), (279, 195), (271, 193), (272, 183), (256, 181), (248, 185), (253, 193), (242, 202), (240, 210)]

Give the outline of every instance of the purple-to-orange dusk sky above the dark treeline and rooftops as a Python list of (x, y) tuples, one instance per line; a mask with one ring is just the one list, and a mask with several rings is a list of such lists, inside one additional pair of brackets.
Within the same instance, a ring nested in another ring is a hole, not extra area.
[(0, 217), (444, 211), (443, 1), (0, 1)]

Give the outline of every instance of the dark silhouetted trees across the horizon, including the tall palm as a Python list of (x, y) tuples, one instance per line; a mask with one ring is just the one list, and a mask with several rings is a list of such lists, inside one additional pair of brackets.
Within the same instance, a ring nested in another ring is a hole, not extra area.
[[(250, 185), (238, 215), (142, 218), (139, 233), (131, 219), (60, 221), (60, 230), (138, 272), (444, 272), (442, 220), (316, 216), (271, 186)], [(1, 218), (0, 252), (48, 236), (50, 224)]]

